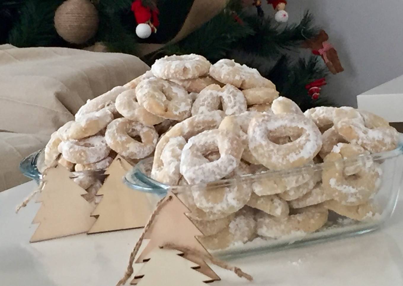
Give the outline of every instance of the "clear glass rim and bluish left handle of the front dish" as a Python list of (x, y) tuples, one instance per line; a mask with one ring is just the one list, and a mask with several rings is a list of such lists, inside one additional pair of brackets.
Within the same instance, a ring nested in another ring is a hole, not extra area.
[[(140, 190), (142, 192), (147, 192), (147, 193), (152, 193), (152, 194), (158, 194), (158, 195), (165, 195), (168, 191), (172, 191), (174, 193), (179, 193), (180, 190), (183, 189), (189, 189), (189, 188), (206, 188), (208, 187), (224, 187), (224, 186), (229, 186), (234, 183), (240, 183), (240, 182), (256, 182), (258, 180), (262, 179), (267, 179), (270, 177), (288, 177), (291, 175), (297, 175), (303, 173), (304, 170), (310, 170), (310, 171), (319, 171), (328, 168), (331, 165), (335, 165), (337, 163), (354, 163), (358, 161), (364, 161), (364, 160), (373, 160), (373, 161), (380, 161), (380, 160), (385, 160), (385, 159), (391, 159), (398, 157), (403, 154), (403, 144), (399, 145), (398, 148), (391, 150), (391, 151), (386, 151), (386, 152), (380, 152), (380, 153), (374, 153), (374, 154), (369, 154), (369, 155), (360, 155), (357, 157), (352, 157), (352, 158), (347, 158), (347, 159), (340, 159), (337, 161), (332, 161), (328, 163), (318, 163), (318, 164), (309, 164), (309, 165), (304, 165), (301, 167), (295, 167), (292, 169), (287, 169), (287, 170), (280, 170), (280, 171), (267, 171), (264, 173), (260, 174), (253, 174), (253, 175), (245, 175), (241, 177), (236, 177), (236, 178), (231, 178), (231, 179), (222, 179), (222, 180), (217, 180), (214, 182), (209, 182), (209, 183), (199, 183), (199, 184), (193, 184), (193, 185), (184, 185), (184, 186), (170, 186), (163, 184), (161, 182), (158, 182), (151, 177), (147, 176), (144, 174), (140, 166), (145, 165), (146, 163), (152, 162), (153, 158), (146, 158), (141, 161), (139, 161), (133, 169), (131, 169), (127, 175), (124, 178), (125, 184), (127, 184), (129, 187), (134, 188), (136, 190)], [(141, 185), (140, 185), (141, 184)]]

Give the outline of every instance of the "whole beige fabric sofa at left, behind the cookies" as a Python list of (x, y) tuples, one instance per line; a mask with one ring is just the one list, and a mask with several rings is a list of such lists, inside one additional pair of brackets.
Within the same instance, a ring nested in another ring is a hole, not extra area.
[(19, 162), (79, 107), (149, 67), (128, 54), (0, 45), (0, 191), (28, 179)]

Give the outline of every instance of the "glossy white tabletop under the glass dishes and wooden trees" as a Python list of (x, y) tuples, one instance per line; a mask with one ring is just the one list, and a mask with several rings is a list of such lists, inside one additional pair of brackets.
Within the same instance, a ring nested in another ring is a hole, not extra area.
[[(114, 286), (123, 275), (140, 230), (79, 234), (29, 243), (40, 204), (15, 207), (34, 188), (28, 182), (0, 193), (0, 285)], [(250, 273), (247, 282), (213, 267), (216, 286), (403, 285), (403, 200), (377, 232), (230, 261)], [(130, 280), (129, 280), (130, 281)], [(210, 284), (212, 285), (212, 284)], [(157, 285), (156, 285), (157, 286)]]

